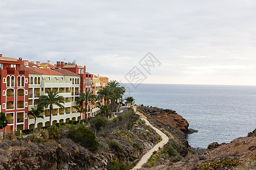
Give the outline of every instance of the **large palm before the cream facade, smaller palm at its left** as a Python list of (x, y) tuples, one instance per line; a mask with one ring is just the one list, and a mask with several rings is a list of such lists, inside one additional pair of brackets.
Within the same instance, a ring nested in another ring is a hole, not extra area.
[(64, 104), (64, 97), (59, 95), (59, 92), (55, 91), (53, 92), (52, 90), (47, 90), (46, 91), (48, 95), (42, 95), (39, 97), (39, 101), (38, 101), (38, 106), (42, 106), (45, 108), (49, 107), (49, 112), (50, 112), (50, 116), (49, 116), (49, 126), (52, 125), (52, 109), (53, 109), (53, 105), (57, 105), (59, 108), (64, 108), (64, 105), (62, 105), (61, 103)]

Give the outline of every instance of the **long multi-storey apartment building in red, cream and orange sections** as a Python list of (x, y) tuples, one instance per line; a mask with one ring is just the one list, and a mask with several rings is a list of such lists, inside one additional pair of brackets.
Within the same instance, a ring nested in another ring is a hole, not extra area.
[[(0, 54), (0, 111), (6, 113), (8, 125), (6, 131), (31, 129), (34, 126), (42, 127), (49, 125), (49, 108), (44, 110), (44, 118), (38, 118), (34, 125), (34, 117), (27, 113), (38, 105), (39, 97), (47, 95), (47, 90), (58, 91), (65, 99), (64, 108), (56, 105), (53, 107), (52, 124), (86, 119), (100, 112), (96, 104), (88, 103), (88, 112), (76, 112), (76, 100), (80, 92), (85, 90), (97, 94), (100, 88), (106, 86), (99, 76), (86, 72), (86, 67), (68, 65), (57, 62), (54, 66), (51, 61), (40, 63), (22, 58), (2, 57)], [(102, 102), (102, 101), (101, 101)], [(82, 103), (85, 107), (85, 103)], [(0, 129), (0, 133), (3, 129)]]

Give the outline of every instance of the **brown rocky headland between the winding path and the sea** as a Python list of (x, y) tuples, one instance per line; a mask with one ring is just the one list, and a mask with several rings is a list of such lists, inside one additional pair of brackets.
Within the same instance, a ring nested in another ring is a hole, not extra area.
[(146, 113), (154, 120), (180, 129), (184, 133), (188, 131), (188, 121), (171, 109), (161, 109), (156, 107), (138, 107), (138, 111)]

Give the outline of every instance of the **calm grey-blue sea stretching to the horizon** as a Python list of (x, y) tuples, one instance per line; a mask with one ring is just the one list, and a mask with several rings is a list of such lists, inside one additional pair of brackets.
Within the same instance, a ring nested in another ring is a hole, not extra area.
[(192, 147), (230, 142), (256, 128), (256, 86), (140, 84), (130, 90), (135, 104), (172, 109), (183, 116), (189, 128), (198, 130), (188, 135)]

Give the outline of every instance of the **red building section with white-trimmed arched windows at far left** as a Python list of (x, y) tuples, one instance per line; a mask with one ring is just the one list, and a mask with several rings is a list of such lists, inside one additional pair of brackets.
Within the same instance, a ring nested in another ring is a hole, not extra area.
[(6, 129), (11, 131), (28, 128), (28, 71), (20, 70), (20, 65), (22, 58), (2, 57), (0, 54), (1, 112), (6, 113)]

